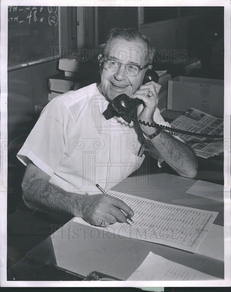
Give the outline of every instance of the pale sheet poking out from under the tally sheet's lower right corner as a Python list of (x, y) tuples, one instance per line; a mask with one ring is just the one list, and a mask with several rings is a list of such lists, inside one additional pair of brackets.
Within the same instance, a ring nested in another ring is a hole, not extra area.
[(196, 253), (224, 261), (224, 227), (212, 224)]

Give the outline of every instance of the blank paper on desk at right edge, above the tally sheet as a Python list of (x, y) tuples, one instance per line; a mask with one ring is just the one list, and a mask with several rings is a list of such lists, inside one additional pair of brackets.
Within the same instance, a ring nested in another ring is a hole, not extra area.
[(223, 188), (223, 185), (197, 180), (186, 193), (224, 202)]

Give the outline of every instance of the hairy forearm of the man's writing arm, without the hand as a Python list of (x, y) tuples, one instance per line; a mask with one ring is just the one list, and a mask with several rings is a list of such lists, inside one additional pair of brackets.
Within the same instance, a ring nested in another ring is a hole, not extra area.
[(22, 189), (25, 199), (44, 210), (81, 217), (84, 195), (66, 192), (42, 178), (24, 178)]

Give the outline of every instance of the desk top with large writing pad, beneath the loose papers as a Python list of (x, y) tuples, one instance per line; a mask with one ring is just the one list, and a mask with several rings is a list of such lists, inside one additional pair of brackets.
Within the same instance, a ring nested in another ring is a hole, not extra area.
[[(223, 225), (222, 202), (185, 193), (194, 183), (195, 180), (193, 179), (159, 173), (126, 178), (114, 187), (113, 190), (153, 199), (163, 203), (217, 211), (219, 214), (214, 224)], [(60, 229), (60, 232), (64, 232), (64, 238), (66, 232), (70, 232), (71, 230), (68, 228), (85, 228), (85, 225), (75, 223), (72, 220), (69, 221)], [(94, 227), (92, 228), (94, 229)], [(90, 229), (88, 228), (89, 231)], [(102, 240), (102, 231), (100, 234), (101, 238), (98, 237), (97, 239), (90, 238), (87, 232), (85, 235), (87, 239), (84, 240), (80, 237), (74, 242), (75, 252), (79, 254), (79, 262), (82, 261), (82, 265), (77, 273), (81, 276), (86, 276), (90, 272), (96, 270), (120, 279), (127, 279), (143, 262), (149, 251), (152, 251), (169, 260), (192, 267), (208, 275), (220, 278), (224, 277), (223, 261), (137, 239), (126, 238), (121, 240), (118, 239), (118, 237), (115, 237), (115, 239), (107, 239), (106, 237)], [(69, 260), (71, 260), (73, 254), (73, 249), (71, 248), (72, 244), (73, 241), (64, 239), (64, 249), (59, 250), (59, 253), (62, 253), (62, 255)], [(77, 249), (76, 246), (78, 246)], [(28, 256), (39, 261), (40, 263), (38, 263), (38, 265), (40, 266), (41, 263), (43, 263), (55, 267), (55, 252), (57, 251), (52, 251), (51, 239), (48, 238), (33, 248), (28, 253)], [(116, 257), (113, 256), (114, 253), (117, 254)], [(28, 261), (28, 258), (23, 260)], [(20, 279), (22, 279), (23, 260), (9, 271), (11, 274), (15, 273), (15, 271), (20, 273)], [(35, 263), (36, 262), (33, 261), (34, 265)], [(35, 268), (35, 266), (33, 268)], [(77, 274), (76, 276), (78, 276)], [(42, 280), (41, 277), (40, 280)], [(48, 280), (47, 276), (45, 279)], [(81, 279), (81, 277), (78, 279)]]

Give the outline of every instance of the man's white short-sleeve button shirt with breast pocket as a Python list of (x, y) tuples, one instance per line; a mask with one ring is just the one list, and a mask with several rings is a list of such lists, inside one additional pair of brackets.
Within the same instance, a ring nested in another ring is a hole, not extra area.
[[(51, 177), (51, 183), (68, 192), (98, 194), (97, 183), (110, 190), (139, 168), (145, 156), (137, 155), (144, 140), (141, 128), (121, 117), (106, 120), (102, 112), (107, 105), (97, 84), (54, 98), (42, 111), (18, 159), (25, 165), (32, 161)], [(159, 109), (154, 120), (170, 126)]]

